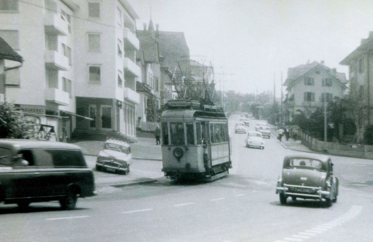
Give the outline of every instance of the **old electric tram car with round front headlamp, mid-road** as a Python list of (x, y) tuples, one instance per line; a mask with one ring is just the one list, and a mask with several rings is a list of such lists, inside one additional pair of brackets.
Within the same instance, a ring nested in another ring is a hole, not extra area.
[(221, 107), (170, 100), (160, 118), (162, 171), (173, 180), (215, 180), (228, 175), (231, 141)]

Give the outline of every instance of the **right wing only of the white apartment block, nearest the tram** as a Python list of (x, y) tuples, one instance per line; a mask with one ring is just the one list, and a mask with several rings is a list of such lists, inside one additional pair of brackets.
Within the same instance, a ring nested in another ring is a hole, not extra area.
[[(136, 135), (135, 106), (139, 40), (135, 10), (126, 0), (75, 0), (76, 133), (118, 132)], [(110, 134), (110, 133), (109, 133)]]

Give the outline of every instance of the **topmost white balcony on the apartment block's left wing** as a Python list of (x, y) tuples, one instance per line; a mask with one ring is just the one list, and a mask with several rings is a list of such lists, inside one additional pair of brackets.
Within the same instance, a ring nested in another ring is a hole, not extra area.
[(60, 15), (53, 12), (47, 12), (44, 17), (44, 28), (46, 34), (68, 35), (68, 22), (63, 20)]

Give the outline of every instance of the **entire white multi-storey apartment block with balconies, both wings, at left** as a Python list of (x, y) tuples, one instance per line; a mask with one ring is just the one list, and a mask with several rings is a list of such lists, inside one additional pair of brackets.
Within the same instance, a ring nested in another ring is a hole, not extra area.
[(0, 37), (23, 56), (6, 72), (5, 98), (66, 140), (135, 136), (138, 16), (126, 0), (7, 0)]

